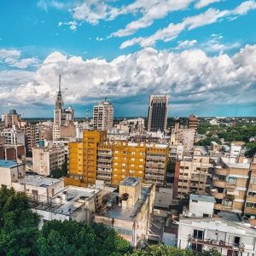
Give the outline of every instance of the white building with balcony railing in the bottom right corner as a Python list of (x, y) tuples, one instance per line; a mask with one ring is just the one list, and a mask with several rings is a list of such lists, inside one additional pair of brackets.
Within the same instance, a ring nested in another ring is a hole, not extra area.
[(256, 230), (236, 213), (219, 213), (217, 218), (180, 218), (177, 247), (190, 247), (196, 252), (215, 248), (225, 256), (254, 256)]

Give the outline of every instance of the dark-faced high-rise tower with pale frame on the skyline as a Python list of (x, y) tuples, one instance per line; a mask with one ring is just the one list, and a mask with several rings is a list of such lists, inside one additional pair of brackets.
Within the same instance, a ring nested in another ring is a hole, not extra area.
[(165, 131), (168, 116), (168, 96), (151, 95), (148, 107), (148, 131)]

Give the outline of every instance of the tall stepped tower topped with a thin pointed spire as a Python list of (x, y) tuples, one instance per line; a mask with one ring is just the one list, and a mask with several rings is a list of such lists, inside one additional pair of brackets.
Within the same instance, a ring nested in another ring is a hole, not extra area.
[(62, 137), (75, 137), (74, 111), (72, 107), (64, 109), (61, 96), (61, 75), (59, 77), (59, 91), (55, 101), (53, 139)]

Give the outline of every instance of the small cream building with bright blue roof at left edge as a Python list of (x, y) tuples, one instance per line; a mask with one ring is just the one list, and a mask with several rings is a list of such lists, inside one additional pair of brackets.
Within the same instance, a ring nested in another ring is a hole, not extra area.
[(24, 164), (17, 164), (12, 160), (0, 160), (0, 186), (11, 188), (12, 183), (25, 177), (26, 170)]

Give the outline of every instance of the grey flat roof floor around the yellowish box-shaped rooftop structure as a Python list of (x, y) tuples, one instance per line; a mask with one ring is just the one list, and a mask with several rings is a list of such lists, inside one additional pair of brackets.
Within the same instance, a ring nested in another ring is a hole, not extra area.
[[(150, 191), (150, 187), (142, 187), (141, 197), (137, 201), (134, 207), (120, 207), (118, 204), (114, 204), (110, 209), (106, 208), (99, 215), (108, 217), (108, 218), (118, 218), (123, 220), (133, 220), (137, 217), (137, 213), (140, 212), (143, 207), (144, 202), (148, 197), (148, 192)], [(112, 199), (114, 200), (116, 196), (119, 196), (119, 193), (112, 193)]]

